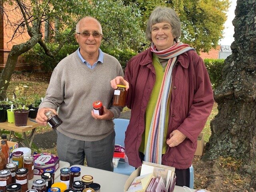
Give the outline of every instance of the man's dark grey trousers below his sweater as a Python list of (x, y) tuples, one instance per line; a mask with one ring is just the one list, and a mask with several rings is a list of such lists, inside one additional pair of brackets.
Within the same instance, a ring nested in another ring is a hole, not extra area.
[(113, 171), (112, 158), (115, 145), (115, 131), (106, 138), (99, 141), (80, 141), (69, 138), (68, 136), (57, 131), (57, 150), (58, 157), (71, 165), (84, 165), (86, 158), (89, 167)]

